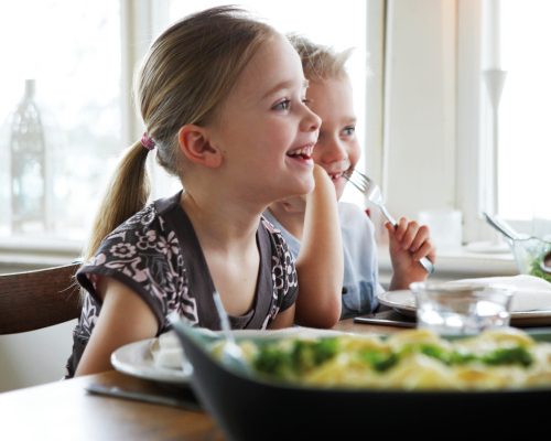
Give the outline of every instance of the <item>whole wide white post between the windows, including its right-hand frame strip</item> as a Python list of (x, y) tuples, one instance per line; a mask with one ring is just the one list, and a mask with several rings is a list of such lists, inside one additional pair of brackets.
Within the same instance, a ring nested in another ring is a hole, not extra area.
[(460, 209), (464, 243), (494, 239), (480, 19), (479, 0), (388, 0), (382, 190), (396, 215)]

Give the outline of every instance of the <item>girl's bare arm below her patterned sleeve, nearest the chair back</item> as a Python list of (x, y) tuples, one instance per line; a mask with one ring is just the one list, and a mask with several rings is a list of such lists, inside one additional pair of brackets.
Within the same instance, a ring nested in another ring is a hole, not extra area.
[(112, 278), (102, 278), (98, 292), (104, 304), (75, 376), (112, 369), (111, 353), (122, 345), (152, 338), (159, 324), (151, 309), (130, 288)]

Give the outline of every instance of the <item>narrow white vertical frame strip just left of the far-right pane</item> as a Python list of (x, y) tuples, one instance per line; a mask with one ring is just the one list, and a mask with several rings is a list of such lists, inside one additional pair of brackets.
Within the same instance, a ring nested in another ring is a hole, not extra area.
[[(490, 47), (485, 41), (488, 17), (495, 13), (489, 1), (457, 1), (457, 206), (464, 214), (467, 243), (498, 243), (501, 237), (491, 229), (483, 212), (497, 207), (497, 162), (493, 151), (491, 106), (483, 79), (488, 68)], [(487, 36), (487, 35), (486, 35)], [(526, 228), (528, 223), (511, 222)]]

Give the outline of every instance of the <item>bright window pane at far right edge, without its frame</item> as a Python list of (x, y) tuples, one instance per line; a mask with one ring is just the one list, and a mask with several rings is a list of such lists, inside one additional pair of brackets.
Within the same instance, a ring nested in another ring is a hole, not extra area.
[(511, 220), (551, 220), (551, 3), (501, 0), (499, 10), (507, 77), (499, 106), (498, 211)]

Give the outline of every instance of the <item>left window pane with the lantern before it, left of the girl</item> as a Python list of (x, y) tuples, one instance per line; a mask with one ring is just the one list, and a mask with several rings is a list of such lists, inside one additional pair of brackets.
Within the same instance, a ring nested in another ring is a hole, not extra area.
[[(2, 2), (0, 21), (6, 62), (0, 82), (0, 240), (19, 246), (24, 237), (33, 243), (58, 237), (79, 244), (122, 146), (120, 4), (112, 0)], [(33, 168), (29, 165), (33, 160), (17, 149), (18, 142), (29, 140), (28, 135), (14, 139), (14, 111), (29, 78), (35, 84), (44, 131), (40, 149), (45, 149)], [(25, 166), (31, 178), (12, 186)], [(41, 176), (43, 195), (36, 190)], [(34, 208), (28, 206), (17, 217), (17, 192), (28, 196), (34, 192), (29, 197), (45, 200), (40, 213), (46, 234), (36, 223), (25, 222), (34, 216)]]

